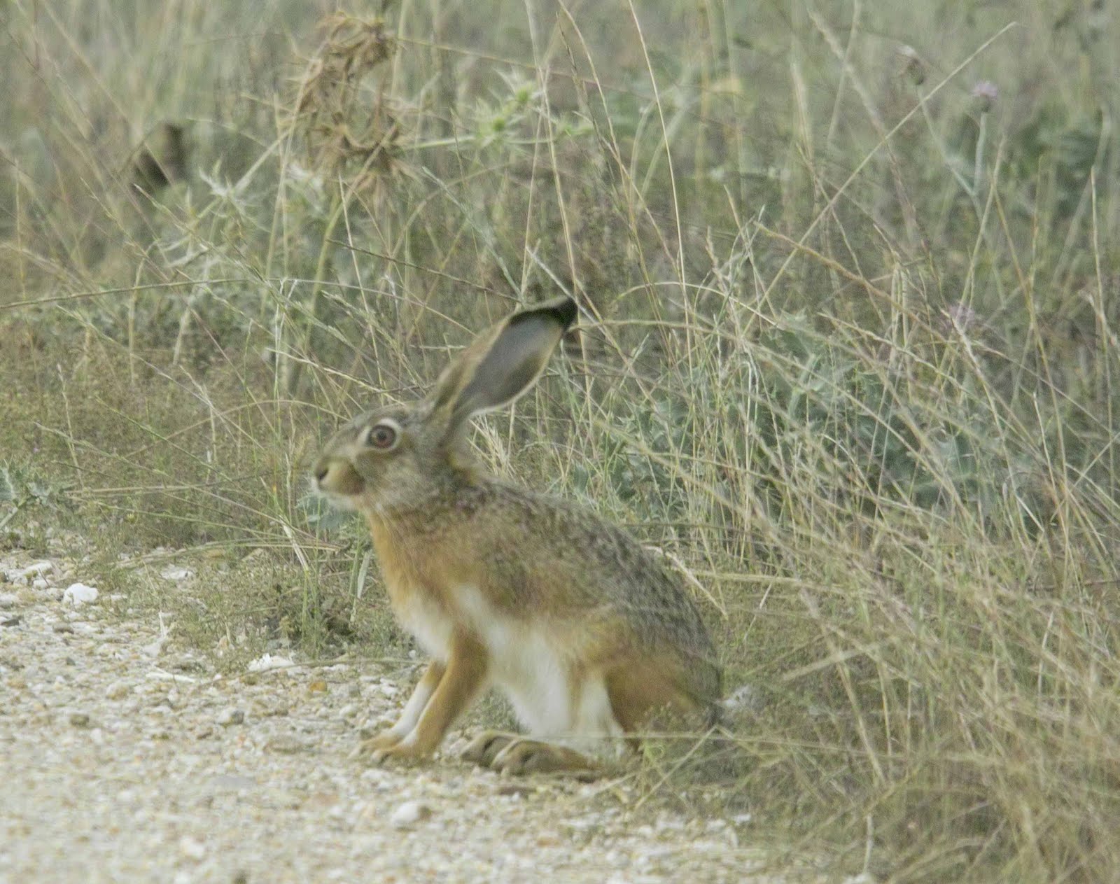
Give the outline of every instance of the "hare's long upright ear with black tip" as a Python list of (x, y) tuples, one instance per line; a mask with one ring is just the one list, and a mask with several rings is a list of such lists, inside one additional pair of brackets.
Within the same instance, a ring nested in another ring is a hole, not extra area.
[(454, 431), (472, 415), (512, 402), (532, 387), (577, 313), (576, 301), (559, 298), (479, 335), (436, 382), (429, 397), (433, 416)]

